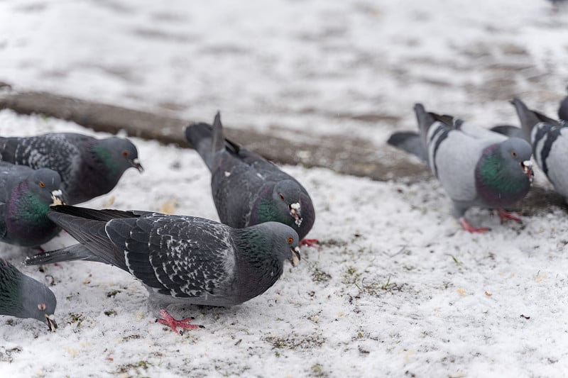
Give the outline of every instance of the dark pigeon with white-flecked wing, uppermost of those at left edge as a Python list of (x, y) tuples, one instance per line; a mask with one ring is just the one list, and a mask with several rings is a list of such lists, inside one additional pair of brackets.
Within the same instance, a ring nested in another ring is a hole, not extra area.
[(96, 139), (79, 133), (0, 138), (0, 155), (5, 162), (58, 172), (67, 204), (107, 194), (130, 167), (143, 170), (130, 140)]

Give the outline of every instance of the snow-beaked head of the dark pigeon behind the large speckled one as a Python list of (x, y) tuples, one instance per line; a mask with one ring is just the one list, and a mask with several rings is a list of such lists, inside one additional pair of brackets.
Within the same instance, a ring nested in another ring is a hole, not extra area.
[(272, 194), (278, 219), (288, 226), (302, 226), (302, 189), (293, 180), (283, 180), (274, 186)]

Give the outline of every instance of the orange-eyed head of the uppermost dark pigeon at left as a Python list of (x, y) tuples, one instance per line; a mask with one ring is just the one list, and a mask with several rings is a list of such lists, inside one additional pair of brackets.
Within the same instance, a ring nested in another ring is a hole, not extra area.
[(143, 171), (138, 160), (138, 150), (128, 139), (117, 137), (102, 139), (92, 147), (92, 150), (108, 169), (109, 175), (116, 177), (116, 181), (130, 167), (138, 169), (138, 172)]

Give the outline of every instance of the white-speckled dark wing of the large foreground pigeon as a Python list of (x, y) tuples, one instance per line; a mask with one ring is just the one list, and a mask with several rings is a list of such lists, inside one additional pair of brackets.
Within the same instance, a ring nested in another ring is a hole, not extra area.
[[(226, 228), (197, 219), (155, 213), (151, 217), (111, 221), (107, 229), (116, 228), (116, 223), (129, 223), (126, 238), (111, 232), (109, 237), (123, 248), (129, 272), (144, 284), (175, 297), (202, 296), (204, 292), (214, 295), (214, 290), (229, 278), (231, 264), (227, 265), (227, 261), (234, 260), (234, 252), (229, 248)], [(212, 239), (203, 238), (203, 234)], [(225, 248), (219, 248), (223, 245)]]

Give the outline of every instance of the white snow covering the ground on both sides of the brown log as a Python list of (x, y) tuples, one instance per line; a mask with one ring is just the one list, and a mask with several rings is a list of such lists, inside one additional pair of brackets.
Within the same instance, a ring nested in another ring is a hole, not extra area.
[[(567, 14), (546, 1), (1, 1), (0, 81), (275, 135), (351, 135), (383, 147), (412, 106), (482, 126), (517, 123), (507, 100), (554, 115), (564, 96)], [(93, 134), (0, 111), (0, 135)], [(104, 134), (97, 134), (104, 136)], [(84, 206), (217, 220), (192, 150), (134, 138), (129, 169)], [(531, 377), (568, 370), (563, 209), (464, 232), (430, 179), (373, 182), (283, 167), (315, 201), (302, 260), (231, 308), (175, 308), (204, 330), (154, 323), (130, 274), (94, 262), (23, 272), (51, 284), (60, 328), (0, 318), (6, 377)], [(537, 186), (550, 184), (536, 172)], [(72, 243), (68, 235), (48, 248)], [(1, 245), (19, 264), (31, 251)], [(18, 265), (20, 266), (20, 265)]]

